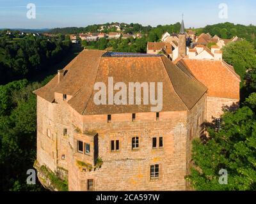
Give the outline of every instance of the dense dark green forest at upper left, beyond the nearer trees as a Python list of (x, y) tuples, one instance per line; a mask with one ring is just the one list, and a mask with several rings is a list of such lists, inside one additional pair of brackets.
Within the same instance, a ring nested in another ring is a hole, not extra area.
[(59, 62), (71, 46), (61, 35), (51, 39), (33, 35), (22, 40), (10, 38), (0, 34), (0, 85), (44, 71)]

